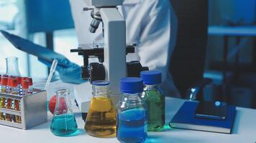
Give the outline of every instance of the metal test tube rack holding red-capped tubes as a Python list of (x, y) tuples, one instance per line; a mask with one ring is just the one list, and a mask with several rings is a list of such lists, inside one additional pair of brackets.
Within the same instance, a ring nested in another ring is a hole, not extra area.
[(45, 91), (40, 92), (39, 90), (34, 89), (33, 94), (27, 94), (25, 96), (0, 93), (0, 98), (1, 97), (4, 97), (5, 99), (18, 100), (20, 102), (20, 109), (17, 111), (14, 109), (0, 107), (0, 113), (21, 117), (21, 123), (0, 119), (1, 125), (19, 129), (29, 129), (47, 122), (47, 94)]

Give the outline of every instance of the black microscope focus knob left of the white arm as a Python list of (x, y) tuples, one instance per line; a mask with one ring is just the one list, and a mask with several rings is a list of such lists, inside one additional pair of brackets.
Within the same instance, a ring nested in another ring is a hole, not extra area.
[(88, 66), (89, 81), (92, 83), (97, 80), (105, 80), (106, 73), (103, 64), (91, 63)]

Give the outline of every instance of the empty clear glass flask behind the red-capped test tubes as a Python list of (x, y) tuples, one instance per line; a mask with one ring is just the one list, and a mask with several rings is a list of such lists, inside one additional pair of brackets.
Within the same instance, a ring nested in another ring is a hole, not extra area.
[(18, 58), (17, 57), (8, 57), (6, 58), (6, 75), (9, 76), (19, 76), (19, 64), (18, 64)]

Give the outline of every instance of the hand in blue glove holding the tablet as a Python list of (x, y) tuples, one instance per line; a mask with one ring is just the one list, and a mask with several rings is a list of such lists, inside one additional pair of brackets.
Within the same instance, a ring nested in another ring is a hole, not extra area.
[[(50, 68), (52, 63), (42, 59), (40, 57), (37, 58), (43, 64)], [(57, 59), (58, 65), (56, 66), (56, 71), (58, 71), (60, 75), (60, 79), (63, 82), (73, 83), (73, 84), (81, 84), (86, 82), (81, 79), (81, 67), (77, 64), (69, 61), (68, 59)]]

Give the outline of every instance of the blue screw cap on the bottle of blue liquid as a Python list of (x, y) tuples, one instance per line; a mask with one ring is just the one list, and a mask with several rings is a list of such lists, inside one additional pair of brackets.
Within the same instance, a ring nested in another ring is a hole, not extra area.
[(125, 77), (120, 80), (120, 91), (128, 94), (143, 92), (143, 80), (138, 77)]

